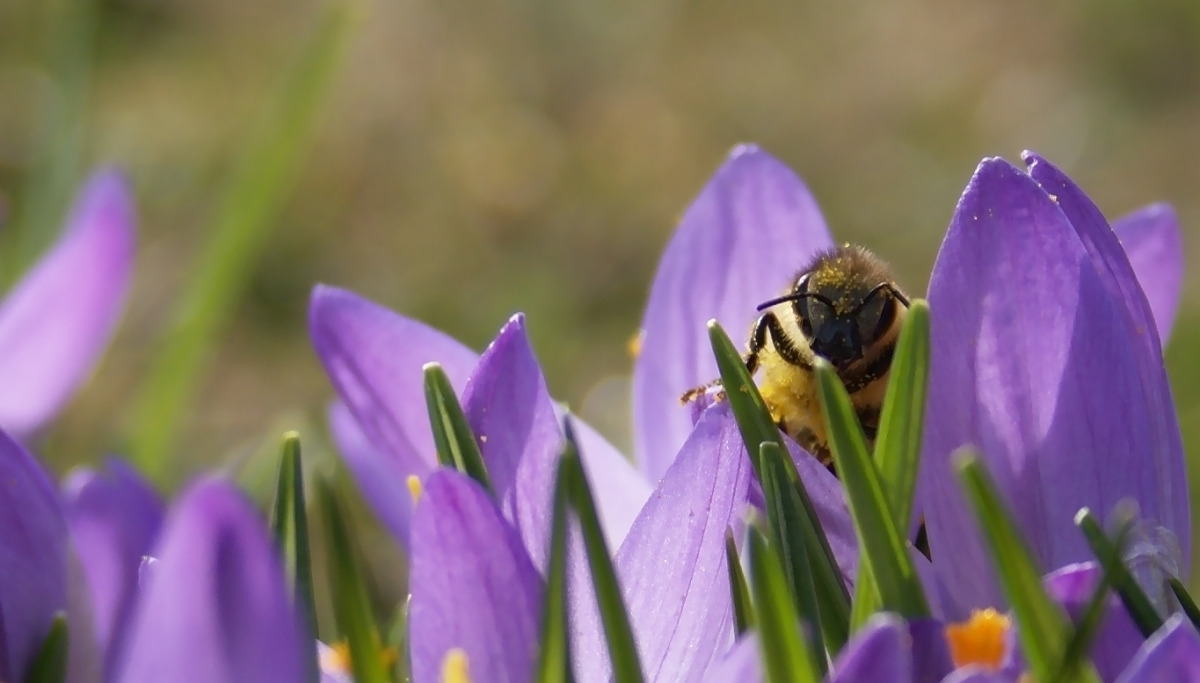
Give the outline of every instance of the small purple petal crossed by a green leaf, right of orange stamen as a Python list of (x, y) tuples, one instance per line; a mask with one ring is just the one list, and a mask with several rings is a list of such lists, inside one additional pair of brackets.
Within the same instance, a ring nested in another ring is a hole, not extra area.
[[(1046, 593), (1061, 604), (1073, 619), (1082, 616), (1096, 592), (1100, 570), (1096, 563), (1073, 564), (1043, 580)], [(1104, 681), (1115, 679), (1136, 654), (1145, 639), (1129, 612), (1116, 595), (1109, 595), (1100, 629), (1092, 640), (1088, 657)]]

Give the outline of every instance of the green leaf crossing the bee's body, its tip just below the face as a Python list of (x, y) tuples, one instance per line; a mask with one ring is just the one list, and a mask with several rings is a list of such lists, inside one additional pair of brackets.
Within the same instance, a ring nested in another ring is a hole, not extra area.
[(850, 516), (859, 543), (859, 558), (871, 568), (882, 607), (908, 618), (928, 617), (925, 591), (912, 564), (904, 535), (896, 528), (880, 471), (866, 450), (866, 438), (846, 394), (846, 387), (833, 366), (821, 358), (812, 364), (812, 371), (829, 435), (829, 449), (846, 487), (846, 502), (850, 504)]

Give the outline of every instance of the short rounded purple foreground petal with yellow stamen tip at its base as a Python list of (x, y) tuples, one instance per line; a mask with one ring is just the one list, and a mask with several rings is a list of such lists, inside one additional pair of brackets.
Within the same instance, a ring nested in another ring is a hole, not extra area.
[(409, 592), (414, 681), (439, 681), (452, 648), (475, 683), (533, 678), (541, 576), (487, 492), (455, 471), (434, 472), (416, 505)]

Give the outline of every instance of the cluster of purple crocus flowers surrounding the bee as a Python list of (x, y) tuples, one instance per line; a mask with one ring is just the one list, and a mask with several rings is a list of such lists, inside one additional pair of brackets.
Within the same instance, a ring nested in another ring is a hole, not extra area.
[[(1096, 583), (1094, 565), (1078, 564), (1092, 557), (1073, 523), (1080, 508), (1105, 515), (1121, 499), (1139, 504), (1151, 589), (1186, 575), (1189, 561), (1183, 454), (1160, 347), (1182, 278), (1174, 214), (1153, 206), (1110, 226), (1058, 169), (1036, 155), (1026, 162), (1027, 170), (1002, 160), (979, 166), (930, 281), (931, 375), (916, 509), (928, 528), (932, 562), (923, 574), (937, 624), (970, 624), (972, 613), (1007, 605), (953, 480), (960, 447), (979, 449), (1042, 569), (1063, 568), (1046, 583), (1068, 607)], [(650, 679), (728, 679), (719, 676), (748, 661), (746, 641), (731, 647), (719, 537), (739, 526), (760, 493), (725, 407), (697, 418), (678, 403), (680, 391), (716, 376), (704, 323), (748, 329), (755, 305), (832, 244), (793, 173), (757, 149), (736, 150), (684, 215), (652, 288), (634, 372), (637, 469), (580, 426)], [(416, 679), (438, 676), (448, 653), (464, 654), (475, 681), (523, 679), (538, 651), (550, 481), (562, 443), (523, 320), (511, 320), (478, 357), (419, 322), (318, 287), (310, 324), (340, 395), (331, 421), (346, 461), (412, 556)], [(430, 361), (462, 394), (494, 496), (436, 468), (421, 397)], [(853, 577), (856, 543), (840, 484), (804, 454), (796, 465), (842, 573)], [(413, 478), (425, 491), (415, 511)], [(589, 597), (572, 595), (574, 669), (581, 679), (599, 679), (610, 675), (608, 658)], [(1115, 616), (1092, 648), (1104, 678), (1132, 671), (1128, 679), (1147, 681), (1136, 671), (1165, 666), (1163, 658), (1200, 658), (1188, 645), (1190, 627), (1172, 619), (1144, 643), (1126, 628), (1120, 604), (1110, 607)], [(989, 623), (1009, 643), (1003, 658), (1019, 660), (1008, 622)], [(862, 648), (890, 647), (902, 651), (895, 669), (871, 669), (881, 676), (872, 678), (835, 665), (833, 679), (930, 679), (929, 669), (913, 677), (914, 624), (893, 617), (872, 624), (839, 661), (875, 661)], [(956, 660), (946, 629), (930, 633), (944, 655), (938, 677), (961, 678), (973, 665), (983, 667), (979, 679), (1012, 673), (997, 661)]]

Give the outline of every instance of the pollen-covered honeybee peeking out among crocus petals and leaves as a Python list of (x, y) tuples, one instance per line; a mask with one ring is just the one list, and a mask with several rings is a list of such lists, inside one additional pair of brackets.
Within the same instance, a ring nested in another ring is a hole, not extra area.
[[(908, 298), (893, 282), (888, 265), (860, 246), (823, 251), (784, 295), (757, 310), (762, 316), (750, 331), (744, 359), (751, 375), (762, 371), (758, 389), (775, 424), (833, 469), (812, 375), (812, 361), (821, 357), (838, 371), (874, 444), (892, 357), (908, 311)], [(688, 391), (683, 401), (718, 383)]]

